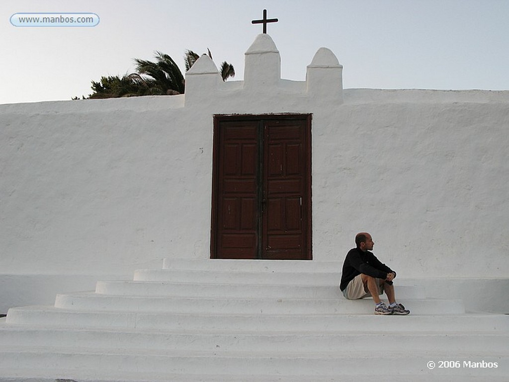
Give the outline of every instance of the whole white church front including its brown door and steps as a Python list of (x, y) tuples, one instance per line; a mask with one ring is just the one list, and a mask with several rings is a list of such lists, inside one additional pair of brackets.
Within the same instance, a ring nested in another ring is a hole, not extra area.
[[(204, 55), (185, 95), (0, 105), (3, 375), (372, 380), (348, 346), (424, 380), (483, 343), (489, 374), (433, 378), (503, 380), (509, 92), (344, 90), (326, 48), (280, 67), (261, 34), (242, 81)], [(384, 332), (338, 290), (359, 231), (414, 301)]]

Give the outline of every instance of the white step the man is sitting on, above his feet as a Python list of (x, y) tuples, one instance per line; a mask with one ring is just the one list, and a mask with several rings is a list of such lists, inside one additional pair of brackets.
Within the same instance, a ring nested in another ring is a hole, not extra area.
[[(398, 301), (409, 308), (412, 306), (413, 314), (462, 314), (465, 312), (461, 300), (399, 299)], [(368, 314), (373, 313), (374, 302), (371, 298), (350, 301), (343, 297), (335, 299), (144, 297), (81, 292), (57, 295), (54, 306), (87, 311), (292, 315)]]

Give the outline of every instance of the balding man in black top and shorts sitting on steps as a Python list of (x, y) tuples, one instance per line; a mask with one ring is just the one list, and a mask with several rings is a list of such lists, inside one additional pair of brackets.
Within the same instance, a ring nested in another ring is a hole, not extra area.
[[(340, 289), (349, 300), (358, 300), (373, 297), (375, 301), (375, 314), (410, 313), (401, 304), (396, 303), (394, 285), (392, 280), (396, 273), (382, 263), (370, 250), (373, 250), (373, 239), (367, 232), (357, 233), (355, 237), (356, 248), (352, 248), (343, 263)], [(380, 295), (385, 291), (389, 299), (387, 307)]]

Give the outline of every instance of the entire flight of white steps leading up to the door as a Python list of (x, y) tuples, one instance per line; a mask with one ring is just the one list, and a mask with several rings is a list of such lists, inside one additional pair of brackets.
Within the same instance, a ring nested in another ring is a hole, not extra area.
[[(0, 382), (384, 380), (376, 370), (391, 381), (506, 378), (509, 316), (465, 314), (462, 301), (425, 298), (423, 284), (400, 279), (398, 301), (412, 313), (374, 315), (372, 299), (343, 297), (341, 266), (172, 259), (133, 281), (58, 295), (54, 307), (12, 308), (0, 319)], [(500, 368), (426, 366), (451, 357)]]

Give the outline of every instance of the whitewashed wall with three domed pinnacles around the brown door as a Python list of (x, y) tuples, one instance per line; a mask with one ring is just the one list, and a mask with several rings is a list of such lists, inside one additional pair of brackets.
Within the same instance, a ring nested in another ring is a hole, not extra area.
[(307, 81), (257, 81), (280, 70), (260, 36), (245, 83), (204, 56), (185, 96), (0, 105), (0, 295), (208, 258), (217, 113), (313, 113), (315, 260), (367, 230), (405, 277), (509, 277), (509, 92), (343, 91), (327, 49)]

